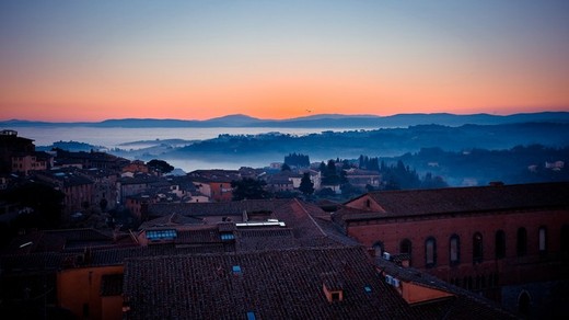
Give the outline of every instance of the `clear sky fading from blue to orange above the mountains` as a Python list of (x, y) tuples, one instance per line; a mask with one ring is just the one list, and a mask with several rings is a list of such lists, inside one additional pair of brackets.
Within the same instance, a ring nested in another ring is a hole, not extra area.
[(541, 111), (567, 0), (0, 1), (0, 119)]

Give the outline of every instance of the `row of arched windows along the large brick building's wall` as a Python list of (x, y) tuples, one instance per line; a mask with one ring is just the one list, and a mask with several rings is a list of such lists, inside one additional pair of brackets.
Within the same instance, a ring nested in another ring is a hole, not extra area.
[[(548, 250), (548, 230), (547, 227), (542, 226), (538, 228), (537, 233), (537, 248), (539, 253), (545, 253)], [(525, 256), (527, 255), (527, 230), (524, 227), (518, 228), (515, 232), (515, 255)], [(493, 256), (487, 256), (485, 254), (484, 236), (481, 232), (475, 232), (472, 236), (472, 261), (474, 264), (481, 263), (488, 259), (503, 259), (507, 255), (507, 235), (503, 230), (497, 230), (493, 235)], [(399, 253), (406, 253), (411, 256), (413, 242), (409, 239), (403, 239), (399, 241)], [(382, 241), (378, 241), (373, 244), (376, 255), (381, 255), (384, 245)], [(438, 264), (437, 254), (437, 238), (428, 237), (425, 240), (425, 266), (433, 267)], [(456, 233), (449, 238), (449, 264), (457, 265), (461, 263), (461, 237)], [(562, 252), (569, 252), (569, 226), (564, 225), (560, 229), (560, 249)]]

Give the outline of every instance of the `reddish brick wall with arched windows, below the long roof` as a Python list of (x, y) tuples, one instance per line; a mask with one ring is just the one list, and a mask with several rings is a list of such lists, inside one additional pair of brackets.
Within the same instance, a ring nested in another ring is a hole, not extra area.
[[(362, 199), (364, 201), (364, 199)], [(527, 281), (545, 281), (567, 275), (560, 252), (561, 226), (569, 225), (569, 210), (533, 210), (489, 213), (484, 216), (443, 218), (381, 219), (350, 222), (347, 232), (359, 242), (373, 248), (381, 243), (390, 253), (402, 253), (404, 239), (411, 242), (410, 264), (450, 283), (469, 289), (491, 289), (498, 285)], [(525, 228), (526, 254), (516, 252), (518, 230)], [(539, 228), (547, 230), (545, 252), (539, 251)], [(506, 256), (496, 258), (496, 232), (506, 233)], [(481, 235), (480, 261), (473, 259), (474, 235)], [(450, 239), (460, 241), (458, 262), (451, 265)], [(436, 240), (436, 263), (427, 265), (426, 241)]]

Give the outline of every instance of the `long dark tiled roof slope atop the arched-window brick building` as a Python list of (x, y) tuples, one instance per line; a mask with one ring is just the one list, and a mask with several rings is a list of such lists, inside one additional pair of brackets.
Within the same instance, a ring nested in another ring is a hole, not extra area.
[[(372, 192), (381, 216), (568, 207), (569, 183), (535, 183)], [(349, 203), (347, 204), (349, 206)]]

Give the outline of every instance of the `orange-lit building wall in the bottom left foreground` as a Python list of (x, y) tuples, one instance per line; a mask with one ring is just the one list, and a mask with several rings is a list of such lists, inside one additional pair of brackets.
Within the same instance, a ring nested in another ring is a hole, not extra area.
[(59, 271), (57, 274), (59, 307), (69, 309), (78, 319), (106, 319), (102, 317), (101, 278), (106, 274), (121, 273), (124, 273), (123, 265)]

